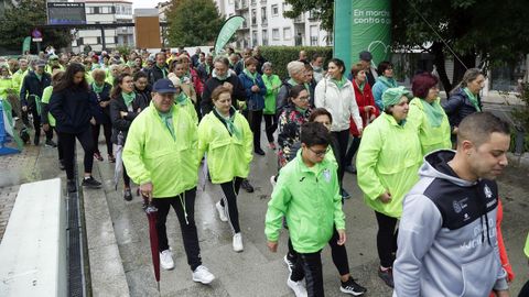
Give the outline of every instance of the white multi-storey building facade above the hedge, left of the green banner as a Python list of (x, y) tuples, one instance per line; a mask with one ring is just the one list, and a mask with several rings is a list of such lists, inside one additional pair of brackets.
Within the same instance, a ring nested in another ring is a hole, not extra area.
[(282, 0), (215, 0), (225, 19), (246, 19), (237, 31), (237, 48), (257, 45), (330, 46), (333, 35), (321, 29), (313, 13), (302, 13), (295, 20), (283, 16), (291, 10)]

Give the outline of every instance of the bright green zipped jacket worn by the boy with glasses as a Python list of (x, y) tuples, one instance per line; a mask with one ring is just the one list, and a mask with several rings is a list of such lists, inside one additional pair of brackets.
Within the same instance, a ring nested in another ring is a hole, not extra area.
[(328, 243), (334, 227), (345, 230), (345, 215), (336, 165), (324, 158), (313, 170), (303, 163), (301, 152), (281, 168), (268, 202), (264, 234), (278, 241), (284, 217), (294, 250), (315, 253)]

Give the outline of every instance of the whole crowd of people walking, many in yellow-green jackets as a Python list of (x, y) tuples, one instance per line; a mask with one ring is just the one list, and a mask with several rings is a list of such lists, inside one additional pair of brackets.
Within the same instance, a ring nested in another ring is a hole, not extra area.
[[(233, 51), (214, 57), (199, 48), (193, 55), (47, 53), (0, 61), (0, 98), (22, 120), (21, 130), (34, 132), (34, 145), (44, 130), (68, 191), (77, 190), (76, 140), (84, 150), (82, 186), (88, 188), (101, 187), (91, 176), (94, 161), (115, 163), (122, 147), (123, 199), (133, 199), (134, 183), (159, 209), (165, 270), (174, 268), (165, 222), (175, 210), (194, 282), (215, 279), (202, 263), (194, 220), (198, 168), (205, 166), (204, 178), (219, 185), (215, 208), (231, 228), (233, 250), (244, 252), (237, 196), (240, 188), (253, 191), (252, 160), (274, 152), (264, 234), (276, 252), (281, 230), (288, 230), (283, 260), (295, 296), (324, 296), (326, 244), (339, 289), (367, 292), (353, 277), (344, 245), (343, 207), (350, 198), (345, 173), (356, 174), (375, 215), (377, 273), (395, 296), (508, 296), (512, 274), (497, 253), (503, 242), (494, 179), (507, 165), (510, 132), (483, 112), (484, 74), (468, 69), (441, 102), (432, 74), (418, 73), (410, 91), (398, 85), (390, 62), (375, 67), (371, 59), (361, 52), (348, 67), (303, 52), (281, 79), (274, 74), (280, 65), (258, 47), (244, 57)], [(106, 155), (98, 148), (101, 128)]]

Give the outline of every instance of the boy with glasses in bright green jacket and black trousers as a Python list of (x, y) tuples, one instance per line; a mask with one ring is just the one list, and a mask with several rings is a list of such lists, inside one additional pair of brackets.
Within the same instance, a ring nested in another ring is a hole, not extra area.
[[(331, 134), (323, 124), (303, 124), (301, 150), (281, 169), (268, 204), (264, 222), (268, 248), (277, 251), (285, 217), (292, 245), (299, 253), (287, 280), (295, 296), (324, 296), (321, 251), (330, 240), (339, 245), (346, 241), (337, 168), (325, 160), (330, 142)], [(301, 283), (303, 277), (306, 289)]]

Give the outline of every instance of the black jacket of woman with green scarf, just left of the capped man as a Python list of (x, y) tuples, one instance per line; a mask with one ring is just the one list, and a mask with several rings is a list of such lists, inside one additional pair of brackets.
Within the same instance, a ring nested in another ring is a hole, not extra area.
[[(149, 102), (147, 102), (147, 100), (139, 95), (136, 95), (136, 99), (132, 101), (132, 111), (129, 111), (121, 95), (119, 95), (118, 98), (110, 100), (110, 120), (112, 122), (111, 141), (114, 144), (118, 144), (119, 132), (122, 133), (123, 140), (127, 139), (130, 124), (148, 106)], [(127, 112), (127, 117), (121, 118), (121, 111)]]

